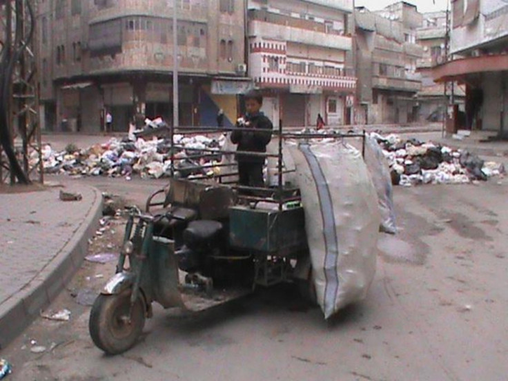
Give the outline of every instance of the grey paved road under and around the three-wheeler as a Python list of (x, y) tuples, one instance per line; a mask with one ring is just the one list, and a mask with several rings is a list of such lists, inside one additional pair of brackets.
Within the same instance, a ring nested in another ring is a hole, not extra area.
[[(1, 355), (13, 381), (504, 381), (507, 183), (396, 188), (401, 232), (380, 240), (367, 300), (330, 322), (279, 287), (192, 317), (155, 309), (144, 340), (111, 358), (88, 336), (88, 308), (64, 293), (52, 308), (71, 309), (70, 322), (39, 320)], [(86, 276), (108, 271), (87, 264), (74, 286), (98, 289)], [(30, 353), (32, 339), (58, 346)]]

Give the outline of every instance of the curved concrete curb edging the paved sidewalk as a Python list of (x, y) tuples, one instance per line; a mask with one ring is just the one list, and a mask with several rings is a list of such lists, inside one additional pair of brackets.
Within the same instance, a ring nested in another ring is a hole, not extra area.
[(102, 194), (96, 188), (92, 190), (95, 194), (92, 207), (72, 238), (26, 289), (1, 306), (0, 349), (17, 338), (39, 316), (40, 311), (55, 300), (81, 266), (88, 252), (88, 239), (97, 230), (102, 217)]

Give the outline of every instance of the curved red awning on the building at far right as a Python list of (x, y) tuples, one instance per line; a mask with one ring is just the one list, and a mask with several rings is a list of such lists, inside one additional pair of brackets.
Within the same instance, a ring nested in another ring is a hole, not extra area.
[(457, 81), (470, 74), (506, 70), (508, 70), (508, 55), (488, 55), (455, 59), (434, 66), (432, 77), (435, 82)]

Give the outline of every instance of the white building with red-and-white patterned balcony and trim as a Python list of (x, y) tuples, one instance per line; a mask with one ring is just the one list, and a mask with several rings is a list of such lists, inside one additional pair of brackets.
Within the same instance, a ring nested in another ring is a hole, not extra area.
[(352, 0), (248, 0), (248, 74), (284, 126), (353, 123)]

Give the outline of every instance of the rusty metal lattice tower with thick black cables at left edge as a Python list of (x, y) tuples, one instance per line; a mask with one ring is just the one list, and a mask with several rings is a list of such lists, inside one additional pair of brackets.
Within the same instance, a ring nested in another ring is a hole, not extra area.
[(0, 0), (0, 184), (43, 182), (36, 7)]

